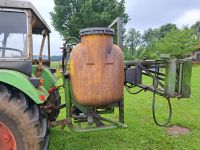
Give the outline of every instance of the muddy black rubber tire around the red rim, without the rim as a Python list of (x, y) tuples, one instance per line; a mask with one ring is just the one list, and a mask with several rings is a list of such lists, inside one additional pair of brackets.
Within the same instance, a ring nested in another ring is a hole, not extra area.
[[(36, 104), (29, 104), (23, 93), (14, 93), (0, 84), (0, 112), (6, 113), (18, 125), (25, 150), (44, 150), (47, 121)], [(47, 146), (46, 146), (47, 148)]]

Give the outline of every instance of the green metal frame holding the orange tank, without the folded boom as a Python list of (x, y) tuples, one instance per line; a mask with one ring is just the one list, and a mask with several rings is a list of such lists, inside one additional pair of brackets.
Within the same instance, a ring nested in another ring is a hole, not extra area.
[[(112, 28), (114, 26), (118, 27), (118, 31), (117, 31), (116, 35), (119, 37), (120, 35), (122, 35), (121, 18), (117, 18), (109, 26), (109, 28)], [(109, 32), (106, 29), (107, 28), (105, 28), (105, 32), (108, 32), (109, 34), (114, 33), (114, 32)], [(80, 33), (83, 34), (83, 32), (85, 32), (85, 30), (81, 30)], [(90, 34), (90, 33), (88, 33), (88, 34)], [(70, 73), (68, 72), (69, 65), (68, 65), (68, 69), (66, 69), (66, 66), (67, 66), (67, 62), (69, 61), (70, 53), (73, 49), (73, 46), (76, 45), (77, 43), (79, 43), (79, 39), (72, 37), (72, 38), (69, 38), (66, 40), (66, 42), (64, 43), (64, 46), (62, 48), (63, 49), (63, 59), (62, 59), (63, 60), (62, 61), (62, 70), (63, 71), (62, 72), (63, 72), (63, 83), (64, 83), (64, 89), (65, 89), (66, 104), (62, 105), (60, 107), (60, 109), (62, 109), (62, 108), (66, 109), (66, 119), (53, 122), (53, 123), (51, 123), (51, 126), (52, 127), (62, 126), (64, 128), (65, 125), (68, 125), (68, 127), (75, 132), (93, 132), (93, 131), (101, 131), (101, 130), (108, 130), (108, 129), (116, 129), (119, 127), (120, 128), (127, 127), (127, 125), (124, 124), (124, 100), (123, 100), (123, 97), (121, 98), (121, 100), (119, 102), (117, 102), (115, 104), (111, 104), (109, 106), (99, 107), (99, 108), (82, 106), (74, 100), (74, 97), (72, 94), (72, 89), (71, 89), (71, 83), (70, 83)], [(121, 48), (123, 47), (122, 36), (120, 36), (120, 38), (118, 38), (118, 45)], [(81, 112), (83, 112), (86, 115), (76, 116), (76, 115), (72, 114), (73, 106), (76, 106), (79, 110), (81, 110)], [(118, 108), (118, 111), (119, 111), (119, 120), (118, 121), (116, 121), (116, 120), (114, 121), (112, 119), (108, 119), (108, 118), (101, 116), (103, 114), (114, 114), (115, 108)], [(93, 118), (91, 118), (90, 112), (94, 109), (96, 109), (96, 111), (91, 113), (93, 116)], [(87, 114), (88, 114), (88, 116), (87, 116)], [(89, 122), (92, 122), (91, 120), (93, 120), (94, 123), (96, 124), (95, 127), (94, 126), (83, 127), (83, 128), (80, 127), (81, 122), (89, 123)], [(77, 127), (77, 125), (75, 125), (74, 123), (75, 124), (78, 123), (79, 127)]]

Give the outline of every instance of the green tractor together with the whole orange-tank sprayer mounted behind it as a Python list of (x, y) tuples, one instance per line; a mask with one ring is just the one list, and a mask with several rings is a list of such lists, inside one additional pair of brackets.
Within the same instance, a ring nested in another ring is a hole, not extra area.
[[(56, 126), (67, 125), (75, 132), (127, 127), (124, 87), (134, 95), (153, 93), (153, 118), (159, 126), (170, 121), (170, 98), (190, 97), (190, 60), (165, 55), (156, 61), (124, 63), (120, 18), (109, 28), (83, 29), (80, 39), (66, 39), (62, 47), (63, 83), (58, 85), (55, 69), (50, 68), (50, 32), (31, 3), (0, 1), (0, 150), (45, 150), (49, 130)], [(36, 49), (33, 43), (38, 36), (41, 46)], [(151, 86), (143, 84), (143, 76), (152, 79)], [(140, 90), (133, 92), (135, 88)], [(169, 118), (163, 124), (155, 117), (156, 95), (169, 104)], [(66, 109), (66, 117), (58, 121), (61, 109)]]

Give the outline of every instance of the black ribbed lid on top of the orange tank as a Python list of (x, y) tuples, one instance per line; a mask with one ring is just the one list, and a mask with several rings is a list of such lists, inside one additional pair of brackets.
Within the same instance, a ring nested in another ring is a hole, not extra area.
[(111, 28), (101, 28), (101, 27), (94, 27), (94, 28), (86, 28), (80, 31), (80, 36), (83, 35), (91, 35), (91, 34), (106, 34), (106, 35), (114, 35), (114, 30)]

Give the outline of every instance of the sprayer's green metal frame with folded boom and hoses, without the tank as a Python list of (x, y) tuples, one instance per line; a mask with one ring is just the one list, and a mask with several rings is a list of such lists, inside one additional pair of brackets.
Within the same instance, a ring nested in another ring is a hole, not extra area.
[[(123, 48), (123, 25), (121, 18), (117, 18), (109, 28), (117, 26), (117, 43), (119, 47)], [(116, 29), (116, 28), (115, 28)], [(84, 30), (82, 30), (84, 31)], [(102, 107), (103, 111), (96, 111), (93, 113), (93, 120), (91, 116), (87, 114), (91, 113), (91, 107), (85, 107), (78, 103), (73, 98), (71, 84), (70, 84), (70, 73), (69, 73), (69, 57), (73, 49), (73, 46), (79, 43), (77, 38), (69, 38), (66, 40), (63, 46), (63, 60), (62, 60), (62, 69), (63, 69), (63, 82), (65, 88), (65, 101), (66, 104), (60, 106), (59, 109), (66, 108), (66, 119), (53, 122), (51, 125), (65, 127), (68, 125), (70, 129), (75, 132), (92, 132), (99, 130), (108, 130), (115, 129), (118, 127), (127, 127), (124, 124), (124, 97), (121, 101), (110, 106)], [(164, 69), (165, 72), (161, 71)], [(186, 59), (173, 59), (168, 55), (163, 55), (160, 60), (144, 60), (139, 62), (128, 61), (124, 62), (124, 74), (125, 81), (124, 87), (126, 90), (133, 95), (136, 95), (142, 91), (150, 91), (153, 93), (152, 96), (152, 114), (153, 119), (156, 125), (166, 126), (172, 117), (172, 106), (170, 103), (170, 98), (189, 98), (191, 94), (191, 72), (192, 72), (192, 62), (191, 60)], [(152, 79), (152, 86), (142, 83), (142, 77), (148, 76)], [(139, 87), (140, 90), (133, 92), (132, 89)], [(160, 95), (166, 99), (166, 102), (169, 106), (169, 116), (165, 123), (160, 123), (156, 119), (155, 112), (155, 103), (156, 95)], [(72, 108), (76, 106), (84, 114), (83, 116), (76, 116), (72, 114)], [(101, 114), (113, 114), (115, 108), (118, 108), (119, 111), (119, 120), (113, 121), (111, 119), (102, 117)], [(89, 112), (89, 113), (88, 113)], [(80, 128), (81, 122), (92, 123), (92, 121), (97, 121), (100, 123), (100, 126), (84, 127)], [(105, 122), (105, 124), (101, 124)], [(75, 124), (77, 123), (77, 125)]]

